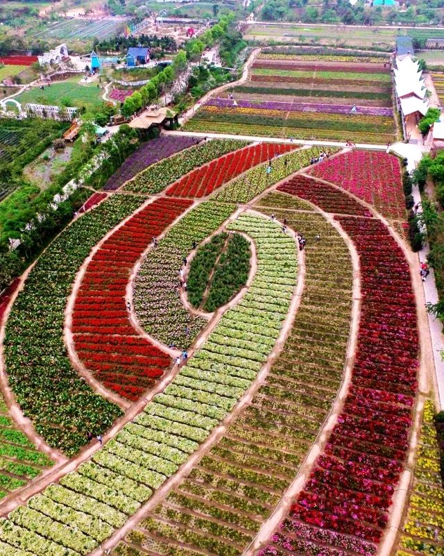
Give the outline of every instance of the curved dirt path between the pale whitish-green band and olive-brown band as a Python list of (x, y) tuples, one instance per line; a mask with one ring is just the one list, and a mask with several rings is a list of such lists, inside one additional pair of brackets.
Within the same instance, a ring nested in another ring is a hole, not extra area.
[[(237, 216), (241, 212), (245, 212), (243, 208), (239, 208), (236, 212), (234, 212), (234, 214), (232, 214), (231, 220), (237, 219)], [(266, 217), (261, 212), (257, 212), (256, 210), (248, 209), (247, 212), (268, 219), (268, 217)], [(291, 230), (289, 230), (289, 235), (290, 237), (293, 238), (296, 237), (295, 233)], [(253, 240), (251, 241), (253, 242)], [(295, 239), (295, 243), (296, 243), (296, 239)], [(101, 545), (101, 547), (96, 548), (96, 550), (94, 550), (89, 556), (101, 556), (103, 554), (107, 554), (107, 550), (111, 550), (112, 548), (114, 548), (114, 546), (116, 546), (116, 544), (119, 541), (121, 541), (124, 537), (126, 537), (126, 534), (128, 534), (128, 532), (130, 532), (130, 530), (132, 530), (135, 527), (135, 525), (139, 523), (139, 521), (144, 519), (149, 514), (149, 512), (151, 512), (157, 506), (157, 504), (160, 503), (160, 501), (162, 501), (169, 494), (169, 492), (174, 487), (176, 487), (180, 482), (182, 482), (182, 480), (189, 474), (191, 469), (202, 459), (202, 457), (206, 453), (210, 451), (210, 449), (214, 446), (214, 444), (216, 444), (221, 439), (221, 437), (225, 435), (225, 432), (230, 426), (230, 424), (237, 419), (241, 411), (244, 410), (244, 407), (246, 407), (246, 405), (251, 403), (257, 390), (264, 382), (264, 378), (267, 376), (269, 370), (271, 369), (273, 362), (275, 362), (278, 355), (280, 355), (282, 349), (284, 348), (285, 340), (287, 339), (287, 335), (291, 330), (291, 326), (293, 325), (293, 321), (296, 318), (296, 314), (298, 312), (298, 308), (302, 298), (302, 293), (304, 292), (304, 288), (305, 288), (305, 252), (297, 250), (296, 253), (298, 257), (298, 279), (293, 292), (293, 296), (291, 298), (291, 304), (287, 312), (287, 317), (284, 320), (284, 323), (282, 325), (280, 335), (278, 336), (278, 339), (276, 340), (275, 345), (273, 346), (273, 351), (271, 351), (270, 355), (268, 355), (266, 363), (259, 371), (259, 373), (257, 373), (257, 376), (253, 381), (252, 385), (250, 385), (250, 387), (248, 388), (244, 396), (242, 396), (239, 399), (234, 409), (228, 413), (228, 415), (225, 417), (225, 419), (223, 419), (223, 421), (221, 421), (221, 423), (219, 423), (219, 426), (216, 426), (216, 428), (212, 430), (210, 436), (207, 437), (207, 439), (203, 442), (203, 444), (200, 444), (199, 448), (196, 450), (196, 452), (193, 453), (193, 455), (191, 455), (191, 457), (189, 457), (187, 462), (185, 462), (185, 464), (182, 464), (179, 470), (174, 475), (172, 475), (171, 478), (169, 478), (166, 482), (164, 482), (164, 484), (162, 485), (162, 487), (160, 487), (160, 489), (157, 489), (157, 491), (155, 491), (154, 496), (152, 496), (148, 500), (148, 502), (139, 509), (139, 511), (136, 514), (130, 517), (128, 521), (126, 521), (125, 525), (123, 525), (123, 528), (117, 530), (112, 535), (112, 537), (110, 537), (107, 541), (105, 541)], [(255, 267), (256, 267), (256, 261), (257, 259), (255, 257)], [(255, 273), (255, 269), (254, 269), (254, 273)], [(205, 339), (198, 339), (196, 343), (203, 344), (204, 341)], [(198, 346), (196, 346), (195, 349), (197, 349), (197, 347)]]

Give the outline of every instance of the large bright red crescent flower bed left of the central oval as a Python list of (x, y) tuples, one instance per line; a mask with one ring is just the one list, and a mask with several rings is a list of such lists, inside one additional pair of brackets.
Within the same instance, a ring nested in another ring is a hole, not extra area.
[(72, 332), (78, 357), (96, 380), (130, 400), (151, 387), (171, 362), (130, 323), (125, 301), (130, 272), (153, 236), (191, 204), (162, 198), (134, 214), (96, 251), (76, 296)]

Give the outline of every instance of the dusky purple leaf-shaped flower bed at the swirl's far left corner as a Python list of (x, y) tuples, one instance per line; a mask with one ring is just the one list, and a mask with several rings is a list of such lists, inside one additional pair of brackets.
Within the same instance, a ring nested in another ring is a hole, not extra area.
[(167, 137), (167, 135), (160, 135), (160, 137), (142, 144), (137, 151), (128, 156), (123, 165), (110, 177), (103, 189), (105, 191), (119, 189), (124, 183), (134, 178), (136, 174), (139, 174), (140, 171), (148, 166), (168, 158), (183, 149), (188, 149), (189, 146), (196, 145), (198, 142), (199, 140), (194, 137)]

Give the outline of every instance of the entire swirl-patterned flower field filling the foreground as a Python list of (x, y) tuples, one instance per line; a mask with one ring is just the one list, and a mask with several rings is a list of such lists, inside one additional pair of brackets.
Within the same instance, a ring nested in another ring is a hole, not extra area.
[(0, 302), (0, 554), (439, 555), (398, 159), (156, 144)]

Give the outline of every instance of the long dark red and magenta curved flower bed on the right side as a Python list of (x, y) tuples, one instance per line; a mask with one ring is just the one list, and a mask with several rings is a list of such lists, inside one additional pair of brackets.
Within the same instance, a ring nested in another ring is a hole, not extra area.
[[(289, 192), (289, 191), (287, 191)], [(298, 189), (298, 196), (310, 199)], [(418, 332), (409, 265), (378, 219), (336, 216), (357, 248), (361, 316), (345, 405), (324, 452), (259, 556), (371, 556), (408, 448)]]

